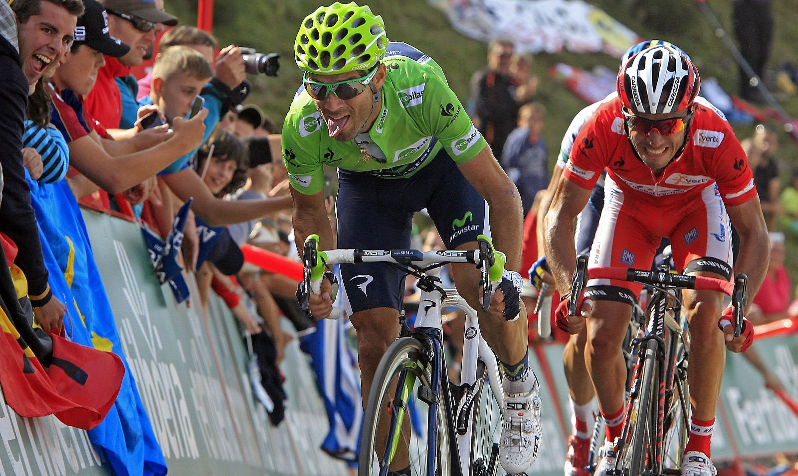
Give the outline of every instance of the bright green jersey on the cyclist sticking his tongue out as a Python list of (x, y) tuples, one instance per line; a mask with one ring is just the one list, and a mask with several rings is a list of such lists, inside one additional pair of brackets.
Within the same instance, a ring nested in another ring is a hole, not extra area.
[[(432, 58), (405, 43), (390, 42), (383, 64), (387, 75), (381, 111), (361, 145), (330, 138), (304, 89), (294, 98), (282, 127), (282, 149), (290, 184), (298, 192), (322, 191), (324, 164), (382, 178), (406, 178), (440, 150), (463, 164), (488, 145)], [(361, 146), (368, 142), (368, 150), (377, 154), (361, 154)]]

